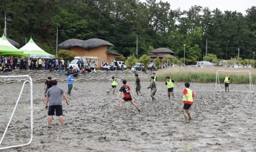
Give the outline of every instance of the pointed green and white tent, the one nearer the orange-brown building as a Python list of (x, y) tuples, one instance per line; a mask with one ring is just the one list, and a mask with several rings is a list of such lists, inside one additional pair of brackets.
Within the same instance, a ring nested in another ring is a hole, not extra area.
[(54, 58), (52, 54), (43, 51), (31, 38), (25, 46), (19, 49), (24, 52), (24, 56), (29, 58)]

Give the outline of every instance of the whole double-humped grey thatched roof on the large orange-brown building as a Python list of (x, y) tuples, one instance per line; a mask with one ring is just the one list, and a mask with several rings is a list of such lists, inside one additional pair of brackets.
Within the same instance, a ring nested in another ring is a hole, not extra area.
[(79, 39), (69, 39), (66, 40), (65, 42), (62, 42), (59, 44), (59, 47), (62, 49), (70, 49), (74, 46), (80, 46), (85, 50), (89, 50), (94, 47), (99, 47), (99, 46), (114, 46), (113, 44), (106, 42), (105, 40), (102, 39), (89, 39), (89, 40), (79, 40)]

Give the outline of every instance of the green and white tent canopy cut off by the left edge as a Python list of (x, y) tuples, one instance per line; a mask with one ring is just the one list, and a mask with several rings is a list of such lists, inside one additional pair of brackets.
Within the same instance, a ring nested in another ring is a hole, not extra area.
[(16, 55), (16, 56), (23, 56), (23, 51), (16, 49), (9, 41), (6, 39), (5, 36), (2, 36), (0, 39), (0, 54), (2, 56), (5, 55)]

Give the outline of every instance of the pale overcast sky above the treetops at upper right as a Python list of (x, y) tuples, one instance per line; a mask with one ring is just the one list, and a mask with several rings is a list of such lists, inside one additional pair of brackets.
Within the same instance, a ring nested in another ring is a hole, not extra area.
[[(156, 0), (160, 2), (160, 0)], [(241, 12), (243, 15), (246, 14), (245, 10), (251, 8), (251, 6), (256, 6), (256, 0), (161, 0), (162, 2), (168, 2), (171, 5), (171, 9), (180, 8), (181, 11), (188, 11), (191, 6), (197, 5), (203, 8), (208, 7), (211, 11), (215, 8), (220, 9), (220, 11), (237, 11)], [(146, 0), (140, 0), (140, 2), (146, 2)]]

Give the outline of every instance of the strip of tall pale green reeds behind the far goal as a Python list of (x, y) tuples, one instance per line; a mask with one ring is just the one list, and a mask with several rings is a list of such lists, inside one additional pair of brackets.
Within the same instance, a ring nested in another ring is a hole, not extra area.
[[(216, 81), (216, 72), (219, 71), (220, 83), (224, 83), (225, 75), (228, 73), (231, 84), (249, 84), (250, 71), (252, 82), (256, 82), (256, 70), (254, 68), (228, 68), (228, 67), (200, 67), (200, 68), (183, 68), (183, 67), (169, 67), (156, 71), (157, 81), (166, 81), (169, 76), (171, 80), (176, 82), (198, 82), (198, 83), (213, 83)], [(241, 72), (233, 72), (241, 71)], [(135, 81), (135, 78), (128, 78), (128, 81)], [(150, 77), (141, 77), (141, 81), (149, 81)]]

